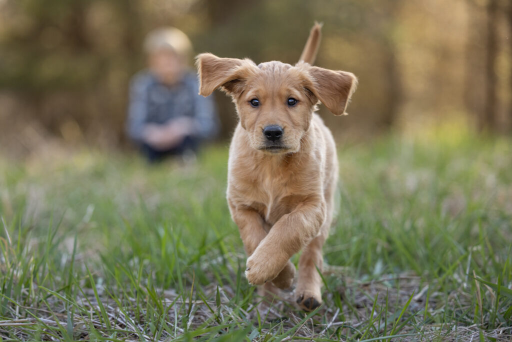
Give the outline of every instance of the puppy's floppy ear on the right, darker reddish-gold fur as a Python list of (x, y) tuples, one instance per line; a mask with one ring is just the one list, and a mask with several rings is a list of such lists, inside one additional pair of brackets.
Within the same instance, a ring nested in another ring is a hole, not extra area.
[(334, 115), (347, 115), (345, 110), (357, 87), (357, 78), (354, 74), (318, 67), (310, 67), (309, 74), (313, 77), (311, 92)]

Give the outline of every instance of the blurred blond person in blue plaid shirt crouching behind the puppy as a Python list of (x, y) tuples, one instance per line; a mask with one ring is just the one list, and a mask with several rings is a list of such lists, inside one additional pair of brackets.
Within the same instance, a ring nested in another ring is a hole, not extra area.
[(188, 69), (192, 45), (180, 30), (161, 28), (148, 33), (144, 50), (148, 69), (131, 82), (127, 133), (150, 162), (193, 159), (219, 125), (211, 96), (198, 94), (197, 75)]

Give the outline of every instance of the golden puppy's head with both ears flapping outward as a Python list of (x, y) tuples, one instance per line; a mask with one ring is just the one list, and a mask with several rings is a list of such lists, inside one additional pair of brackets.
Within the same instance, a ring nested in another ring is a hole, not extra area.
[(197, 57), (199, 93), (220, 88), (231, 95), (250, 145), (265, 153), (290, 153), (301, 148), (320, 100), (333, 114), (343, 115), (357, 79), (345, 71), (332, 71), (299, 62), (255, 65), (249, 59)]

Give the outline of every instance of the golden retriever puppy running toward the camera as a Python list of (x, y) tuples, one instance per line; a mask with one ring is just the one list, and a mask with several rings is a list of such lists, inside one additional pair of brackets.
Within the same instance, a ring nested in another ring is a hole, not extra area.
[(289, 259), (303, 250), (295, 300), (308, 311), (322, 303), (318, 270), (338, 177), (334, 139), (314, 111), (320, 101), (345, 114), (357, 83), (350, 72), (311, 65), (320, 28), (313, 27), (293, 66), (197, 57), (199, 93), (222, 89), (240, 118), (229, 148), (227, 202), (249, 256), (245, 275), (260, 294), (287, 289), (295, 275)]

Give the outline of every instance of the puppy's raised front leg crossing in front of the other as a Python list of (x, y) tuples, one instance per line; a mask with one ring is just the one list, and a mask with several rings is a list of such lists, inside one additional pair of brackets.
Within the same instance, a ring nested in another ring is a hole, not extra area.
[(288, 259), (318, 234), (325, 219), (326, 204), (316, 197), (282, 216), (247, 259), (249, 283), (261, 285), (278, 276)]

